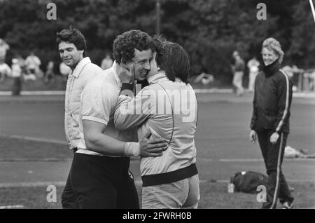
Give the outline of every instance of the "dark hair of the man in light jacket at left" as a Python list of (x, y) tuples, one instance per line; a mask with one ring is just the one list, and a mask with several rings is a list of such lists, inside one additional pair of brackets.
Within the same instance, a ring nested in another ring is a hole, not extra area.
[(73, 29), (72, 27), (70, 27), (69, 29), (62, 29), (62, 31), (57, 32), (57, 48), (59, 46), (59, 43), (61, 43), (62, 41), (73, 43), (78, 50), (84, 50), (83, 57), (85, 57), (86, 41), (85, 37), (80, 31), (78, 31), (78, 29)]

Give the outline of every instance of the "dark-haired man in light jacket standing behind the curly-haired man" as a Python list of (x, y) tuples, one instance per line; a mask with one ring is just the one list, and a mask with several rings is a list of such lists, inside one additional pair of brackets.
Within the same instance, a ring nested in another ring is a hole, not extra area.
[[(64, 130), (69, 148), (77, 150), (79, 135), (80, 95), (88, 81), (102, 74), (102, 69), (85, 57), (86, 41), (78, 29), (63, 29), (57, 33), (59, 55), (71, 72), (66, 84)], [(78, 200), (71, 185), (71, 171), (62, 192), (62, 208), (78, 208)]]

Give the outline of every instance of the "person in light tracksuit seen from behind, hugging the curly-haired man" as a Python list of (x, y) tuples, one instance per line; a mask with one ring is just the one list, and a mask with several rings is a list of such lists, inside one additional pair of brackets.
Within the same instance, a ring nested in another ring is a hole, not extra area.
[[(138, 127), (139, 137), (150, 130), (153, 138), (169, 144), (162, 156), (141, 158), (142, 208), (197, 208), (197, 99), (188, 83), (190, 59), (177, 43), (156, 39), (155, 49), (149, 86), (132, 99), (120, 95), (115, 126), (120, 130)], [(126, 76), (120, 79), (128, 81)]]

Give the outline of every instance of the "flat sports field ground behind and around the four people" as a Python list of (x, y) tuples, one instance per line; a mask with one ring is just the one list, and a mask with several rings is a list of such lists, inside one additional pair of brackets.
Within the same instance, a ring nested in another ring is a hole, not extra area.
[[(254, 194), (227, 193), (227, 181), (233, 173), (265, 173), (258, 145), (248, 142), (251, 97), (198, 95), (195, 142), (201, 180), (199, 208), (260, 208)], [(62, 185), (72, 157), (64, 144), (63, 96), (0, 97), (0, 104), (0, 206), (61, 208)], [(293, 99), (291, 112), (288, 144), (314, 153), (314, 98)], [(283, 162), (283, 173), (295, 188), (296, 208), (315, 207), (314, 167), (314, 159)], [(131, 169), (137, 185), (141, 184), (138, 159), (132, 161)], [(46, 201), (45, 185), (50, 183), (56, 183), (57, 203)], [(141, 187), (138, 189), (140, 192)]]

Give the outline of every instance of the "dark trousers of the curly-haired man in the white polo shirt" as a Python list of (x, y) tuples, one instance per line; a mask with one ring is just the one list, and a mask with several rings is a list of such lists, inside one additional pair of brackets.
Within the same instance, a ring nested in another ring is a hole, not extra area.
[(92, 156), (76, 153), (70, 170), (78, 208), (139, 209), (130, 158)]

